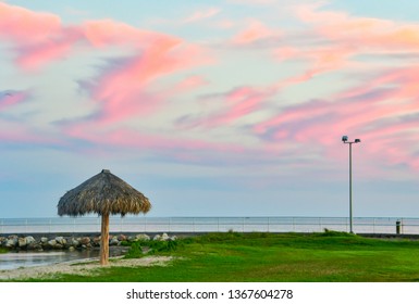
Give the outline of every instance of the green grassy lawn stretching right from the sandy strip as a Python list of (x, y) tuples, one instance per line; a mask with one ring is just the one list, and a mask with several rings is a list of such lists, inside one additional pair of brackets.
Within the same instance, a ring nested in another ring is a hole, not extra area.
[[(53, 281), (419, 281), (418, 241), (367, 239), (333, 231), (209, 233), (172, 242), (153, 254), (176, 258), (165, 267), (111, 267)], [(131, 255), (139, 255), (135, 246)]]

